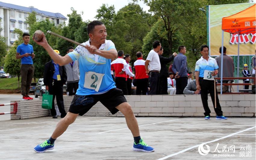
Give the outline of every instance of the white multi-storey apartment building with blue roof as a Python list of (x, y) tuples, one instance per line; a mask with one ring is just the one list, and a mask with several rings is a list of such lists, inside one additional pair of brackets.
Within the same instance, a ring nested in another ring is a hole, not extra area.
[(5, 43), (10, 46), (17, 40), (17, 35), (14, 29), (18, 28), (23, 32), (28, 32), (28, 24), (25, 22), (26, 18), (33, 11), (36, 12), (36, 20), (41, 21), (48, 18), (52, 20), (55, 25), (64, 23), (67, 18), (60, 13), (52, 13), (41, 11), (33, 6), (23, 7), (9, 3), (0, 2), (0, 35), (5, 37)]

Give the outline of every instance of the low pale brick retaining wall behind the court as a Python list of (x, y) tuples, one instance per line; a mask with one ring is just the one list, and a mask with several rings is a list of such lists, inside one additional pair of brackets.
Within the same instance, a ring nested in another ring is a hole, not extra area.
[[(126, 95), (135, 116), (204, 116), (204, 108), (200, 95)], [(68, 111), (73, 96), (64, 96), (65, 110)], [(219, 95), (224, 116), (255, 117), (255, 95)], [(42, 100), (17, 101), (18, 112), (11, 119), (27, 119), (49, 116), (49, 110), (41, 108)], [(208, 104), (215, 115), (211, 97)], [(11, 106), (11, 111), (13, 106)], [(123, 116), (122, 113), (112, 115), (100, 102), (95, 104), (86, 116)]]

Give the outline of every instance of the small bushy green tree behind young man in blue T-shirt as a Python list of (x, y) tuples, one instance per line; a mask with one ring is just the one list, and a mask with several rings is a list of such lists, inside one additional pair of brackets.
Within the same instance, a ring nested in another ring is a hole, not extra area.
[(17, 47), (23, 43), (23, 32), (20, 29), (14, 29), (14, 33), (17, 34), (18, 40), (14, 41), (14, 44), (10, 47), (6, 57), (4, 70), (6, 73), (18, 76), (18, 88), (20, 87), (20, 59), (16, 59)]

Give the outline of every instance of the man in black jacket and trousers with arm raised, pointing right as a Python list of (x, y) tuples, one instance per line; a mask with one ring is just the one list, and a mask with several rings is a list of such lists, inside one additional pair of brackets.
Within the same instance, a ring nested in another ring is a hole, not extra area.
[(177, 55), (177, 53), (173, 53), (172, 56), (169, 58), (163, 57), (164, 49), (161, 47), (161, 49), (158, 51), (158, 56), (161, 64), (161, 70), (160, 70), (160, 80), (159, 80), (159, 93), (160, 95), (168, 95), (167, 93), (167, 77), (169, 77), (166, 65), (167, 63), (171, 62), (174, 57)]

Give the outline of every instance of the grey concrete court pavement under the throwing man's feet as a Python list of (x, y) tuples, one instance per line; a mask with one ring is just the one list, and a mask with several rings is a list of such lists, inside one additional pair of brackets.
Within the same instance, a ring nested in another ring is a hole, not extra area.
[[(54, 150), (36, 153), (33, 147), (48, 139), (60, 120), (41, 117), (0, 121), (0, 159), (255, 159), (255, 118), (137, 119), (141, 136), (155, 152), (132, 151), (133, 137), (124, 117), (79, 116), (55, 141)], [(199, 154), (201, 143), (209, 146), (207, 155)], [(235, 152), (228, 151), (232, 145)]]

